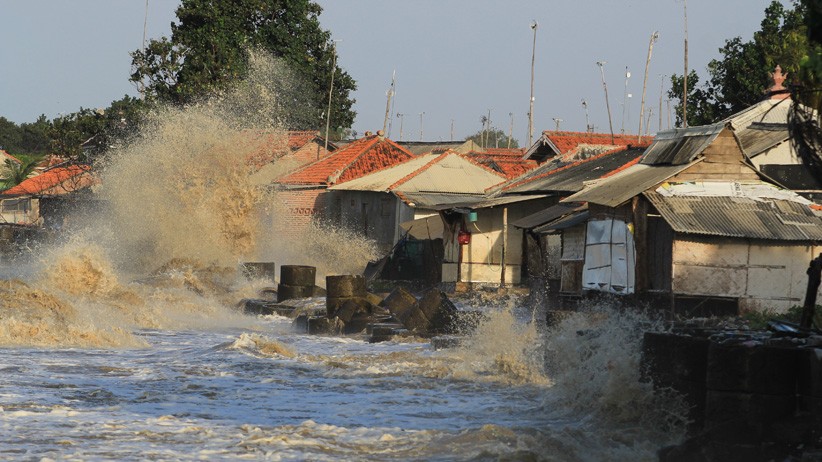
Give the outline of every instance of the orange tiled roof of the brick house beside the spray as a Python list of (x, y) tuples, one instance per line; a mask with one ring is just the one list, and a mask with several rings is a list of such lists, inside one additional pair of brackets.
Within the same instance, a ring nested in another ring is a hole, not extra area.
[(411, 159), (410, 152), (388, 138), (372, 135), (281, 178), (280, 184), (330, 186)]

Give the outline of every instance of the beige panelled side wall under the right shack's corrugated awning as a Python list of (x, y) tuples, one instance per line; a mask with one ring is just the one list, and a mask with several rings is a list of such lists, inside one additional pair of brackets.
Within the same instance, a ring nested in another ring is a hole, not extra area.
[(672, 289), (681, 295), (738, 298), (741, 311), (784, 311), (804, 302), (808, 264), (821, 251), (803, 244), (677, 238)]

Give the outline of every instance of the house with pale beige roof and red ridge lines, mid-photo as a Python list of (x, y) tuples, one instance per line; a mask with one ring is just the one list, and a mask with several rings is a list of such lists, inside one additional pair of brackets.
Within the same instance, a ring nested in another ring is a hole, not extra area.
[[(446, 228), (439, 212), (452, 204), (483, 200), (486, 189), (503, 181), (501, 173), (446, 151), (420, 155), (329, 190), (333, 209), (340, 214), (338, 222), (374, 238), (384, 250), (410, 234), (411, 241), (395, 249), (410, 269), (395, 270), (389, 277), (456, 282), (451, 270), (459, 261), (460, 246), (450, 234), (443, 234)], [(425, 268), (432, 263), (438, 268)]]

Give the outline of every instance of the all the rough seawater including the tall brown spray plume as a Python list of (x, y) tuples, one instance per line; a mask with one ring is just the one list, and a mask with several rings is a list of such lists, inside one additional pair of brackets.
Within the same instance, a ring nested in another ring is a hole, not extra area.
[(540, 307), (473, 294), (456, 301), (487, 321), (445, 350), (242, 314), (272, 281), (238, 262), (312, 265), (322, 285), (379, 257), (327, 224), (295, 237), (251, 181), (291, 168), (290, 103), (266, 83), (282, 73), (255, 59), (245, 85), (158, 109), (99, 159), (99, 201), (58, 242), (0, 256), (0, 459), (633, 462), (682, 440), (679, 400), (639, 381), (637, 313), (547, 329)]

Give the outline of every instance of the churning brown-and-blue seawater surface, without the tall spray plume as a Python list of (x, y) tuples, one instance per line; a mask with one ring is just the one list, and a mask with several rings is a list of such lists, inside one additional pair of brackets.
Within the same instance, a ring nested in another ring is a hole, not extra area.
[(549, 331), (521, 300), (474, 299), (488, 321), (460, 347), (371, 344), (225, 302), (259, 283), (123, 283), (68, 255), (73, 273), (0, 281), (3, 460), (633, 461), (682, 436), (638, 382), (631, 317)]

